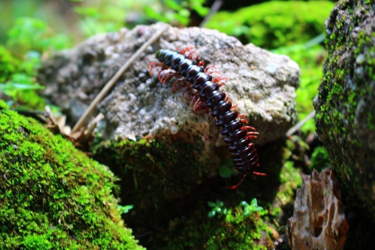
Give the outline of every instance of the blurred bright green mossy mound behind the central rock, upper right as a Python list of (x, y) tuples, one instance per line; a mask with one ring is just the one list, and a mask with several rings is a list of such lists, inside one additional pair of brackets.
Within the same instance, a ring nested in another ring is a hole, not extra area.
[(274, 49), (305, 43), (323, 33), (332, 8), (331, 1), (268, 1), (236, 12), (217, 12), (206, 27), (240, 37), (243, 43)]

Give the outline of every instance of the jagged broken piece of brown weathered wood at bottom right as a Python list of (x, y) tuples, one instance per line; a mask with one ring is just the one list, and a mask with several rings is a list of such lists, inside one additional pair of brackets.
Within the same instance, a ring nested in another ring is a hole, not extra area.
[(288, 240), (292, 249), (341, 250), (349, 224), (341, 203), (339, 182), (330, 168), (321, 174), (302, 176), (293, 217), (288, 219)]

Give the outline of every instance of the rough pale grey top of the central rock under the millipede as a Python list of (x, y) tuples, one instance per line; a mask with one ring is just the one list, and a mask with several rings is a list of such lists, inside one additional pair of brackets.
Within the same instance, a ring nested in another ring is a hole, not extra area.
[[(45, 95), (77, 120), (118, 68), (162, 25), (141, 25), (98, 35), (52, 57), (39, 75), (46, 85)], [(242, 45), (216, 30), (170, 27), (100, 103), (106, 117), (105, 138), (136, 140), (170, 130), (196, 130), (198, 126), (209, 130), (208, 135), (223, 145), (210, 115), (190, 112), (186, 101), (181, 100), (182, 90), (171, 93), (173, 80), (162, 86), (148, 74), (148, 63), (156, 61), (157, 49), (189, 45), (196, 46), (207, 66), (214, 64), (230, 78), (222, 90), (260, 132), (257, 144), (274, 141), (293, 125), (295, 89), (299, 84), (296, 63), (252, 44)]]

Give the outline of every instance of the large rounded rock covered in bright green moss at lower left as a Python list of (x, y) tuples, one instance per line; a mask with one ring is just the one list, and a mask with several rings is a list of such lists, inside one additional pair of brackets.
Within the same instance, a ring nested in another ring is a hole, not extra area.
[(0, 100), (0, 249), (143, 249), (114, 174)]

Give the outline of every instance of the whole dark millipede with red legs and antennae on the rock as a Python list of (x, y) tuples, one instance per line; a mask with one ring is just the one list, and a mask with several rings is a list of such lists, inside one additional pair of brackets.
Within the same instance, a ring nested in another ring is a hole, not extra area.
[[(155, 67), (160, 66), (158, 78), (163, 84), (172, 76), (180, 77), (172, 84), (172, 91), (184, 87), (183, 96), (187, 91), (192, 91), (188, 97), (192, 111), (210, 109), (210, 115), (216, 118), (216, 126), (221, 129), (224, 142), (229, 144), (232, 162), (236, 170), (243, 174), (238, 184), (228, 188), (236, 189), (250, 174), (265, 176), (266, 174), (255, 171), (259, 167), (259, 161), (252, 139), (257, 138), (258, 132), (255, 132), (254, 127), (245, 126), (248, 123), (245, 115), (239, 114), (235, 109), (237, 105), (232, 105), (229, 101), (229, 95), (220, 91), (228, 78), (222, 76), (214, 66), (205, 67), (193, 46), (181, 51), (159, 49), (155, 55), (159, 62), (149, 64), (150, 75), (152, 76)], [(170, 70), (163, 74), (166, 69)], [(215, 74), (219, 76), (214, 77)]]

